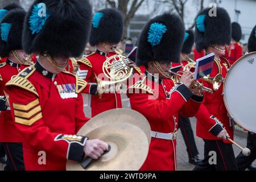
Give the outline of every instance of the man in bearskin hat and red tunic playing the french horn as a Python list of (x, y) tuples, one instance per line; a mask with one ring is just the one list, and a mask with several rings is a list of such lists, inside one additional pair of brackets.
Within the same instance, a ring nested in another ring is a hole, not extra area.
[[(97, 11), (92, 18), (92, 29), (89, 38), (90, 45), (96, 46), (97, 50), (77, 61), (79, 64), (77, 76), (90, 83), (97, 82), (100, 84), (101, 80), (108, 80), (104, 75), (102, 66), (110, 57), (118, 55), (114, 47), (121, 40), (122, 33), (123, 17), (118, 10), (102, 9)], [(110, 59), (110, 61), (113, 60)], [(94, 90), (95, 88), (97, 89), (94, 86)], [(97, 90), (101, 92), (100, 86), (98, 88)], [(103, 111), (122, 107), (121, 94), (115, 90), (115, 87), (103, 91), (105, 92), (92, 94), (92, 117)]]

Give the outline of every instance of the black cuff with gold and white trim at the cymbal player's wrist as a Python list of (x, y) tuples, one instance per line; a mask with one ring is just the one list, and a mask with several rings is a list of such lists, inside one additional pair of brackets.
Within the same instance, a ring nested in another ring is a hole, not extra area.
[(55, 141), (65, 140), (68, 142), (67, 159), (81, 162), (84, 159), (84, 146), (88, 137), (77, 135), (57, 135)]

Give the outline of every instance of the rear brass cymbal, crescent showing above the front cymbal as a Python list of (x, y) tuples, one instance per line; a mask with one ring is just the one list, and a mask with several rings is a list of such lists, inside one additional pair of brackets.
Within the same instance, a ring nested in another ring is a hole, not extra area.
[(108, 125), (109, 123), (131, 123), (141, 128), (147, 136), (148, 143), (151, 140), (151, 128), (147, 119), (139, 112), (131, 109), (112, 109), (100, 113), (90, 119), (81, 127), (77, 135), (87, 134), (97, 129), (99, 126)]

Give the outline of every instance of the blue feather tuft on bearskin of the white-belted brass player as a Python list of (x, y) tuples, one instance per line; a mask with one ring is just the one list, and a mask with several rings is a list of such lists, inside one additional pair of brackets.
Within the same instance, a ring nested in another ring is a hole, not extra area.
[(167, 28), (162, 23), (152, 23), (150, 25), (148, 31), (147, 42), (151, 44), (151, 46), (157, 46), (160, 44), (163, 34), (167, 31)]

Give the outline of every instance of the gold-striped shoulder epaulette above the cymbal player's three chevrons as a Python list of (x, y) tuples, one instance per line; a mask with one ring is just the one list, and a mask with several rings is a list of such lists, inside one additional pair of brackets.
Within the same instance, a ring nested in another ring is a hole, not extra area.
[(30, 75), (32, 75), (32, 73), (34, 73), (35, 70), (36, 69), (34, 66), (24, 69), (17, 76), (14, 76), (13, 78), (11, 78), (11, 80), (6, 83), (6, 86), (18, 86), (20, 88), (23, 88), (25, 90), (28, 90), (34, 93), (36, 96), (39, 96), (38, 92), (36, 92), (35, 86), (32, 85), (32, 83), (29, 80), (27, 80), (27, 78)]

